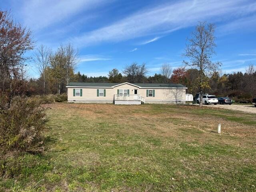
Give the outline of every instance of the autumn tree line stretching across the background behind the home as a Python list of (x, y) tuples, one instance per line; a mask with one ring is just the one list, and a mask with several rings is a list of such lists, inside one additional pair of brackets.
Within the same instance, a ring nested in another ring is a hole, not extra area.
[[(74, 73), (74, 69), (70, 72), (70, 82), (98, 82), (98, 83), (173, 83), (183, 84), (188, 87), (187, 92), (196, 94), (200, 92), (198, 78), (200, 71), (194, 68), (186, 68), (180, 66), (173, 68), (169, 64), (163, 64), (160, 68), (160, 73), (154, 76), (148, 76), (148, 68), (146, 64), (139, 65), (132, 63), (124, 67), (123, 71), (114, 68), (108, 76), (87, 76), (80, 72)], [(49, 67), (48, 70), (52, 70)], [(47, 74), (48, 72), (46, 72)], [(63, 73), (64, 74), (64, 73)], [(54, 78), (54, 76), (49, 76)], [(56, 94), (66, 92), (66, 82), (61, 81), (61, 89), (58, 90), (56, 80), (48, 82), (48, 75), (46, 76), (46, 89), (44, 89), (44, 77), (41, 75), (38, 79), (30, 79), (28, 84), (31, 88), (29, 94)], [(233, 72), (223, 74), (221, 70), (215, 71), (210, 76), (204, 76), (205, 87), (203, 92), (215, 94), (217, 96), (229, 96), (235, 100), (248, 100), (256, 96), (256, 67), (254, 64), (249, 64), (246, 72)], [(58, 92), (60, 91), (60, 92)]]

